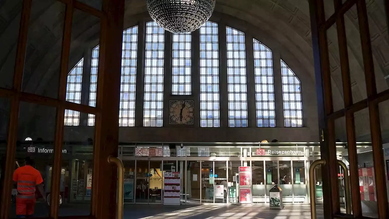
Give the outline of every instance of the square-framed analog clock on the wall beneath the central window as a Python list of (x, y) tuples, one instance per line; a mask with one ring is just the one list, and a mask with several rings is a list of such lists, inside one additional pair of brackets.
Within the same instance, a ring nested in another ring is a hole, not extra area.
[(170, 101), (170, 124), (193, 124), (193, 101)]

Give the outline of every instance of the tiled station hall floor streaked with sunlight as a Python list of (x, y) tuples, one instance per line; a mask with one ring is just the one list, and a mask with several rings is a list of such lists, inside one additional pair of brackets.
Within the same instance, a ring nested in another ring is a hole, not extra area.
[[(47, 206), (35, 208), (35, 216), (48, 214)], [(60, 216), (88, 215), (90, 205), (63, 205)], [(11, 218), (15, 217), (11, 209)], [(321, 206), (318, 206), (318, 218), (324, 218)], [(284, 209), (269, 209), (265, 205), (124, 205), (125, 219), (309, 219), (309, 205), (286, 205)]]

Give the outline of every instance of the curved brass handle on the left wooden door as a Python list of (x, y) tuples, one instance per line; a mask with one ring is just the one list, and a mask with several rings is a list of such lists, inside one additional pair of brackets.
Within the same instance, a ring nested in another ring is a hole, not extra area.
[(108, 162), (117, 166), (117, 206), (116, 218), (123, 219), (123, 187), (124, 187), (124, 166), (121, 159), (117, 157), (108, 157)]

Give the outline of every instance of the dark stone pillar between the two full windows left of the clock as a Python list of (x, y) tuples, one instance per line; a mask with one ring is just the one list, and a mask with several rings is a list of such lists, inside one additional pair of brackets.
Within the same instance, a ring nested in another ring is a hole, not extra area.
[(145, 48), (146, 48), (146, 23), (139, 21), (138, 25), (138, 47), (137, 47), (137, 85), (135, 87), (135, 127), (143, 126), (144, 108), (144, 73), (145, 73)]

